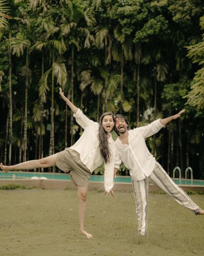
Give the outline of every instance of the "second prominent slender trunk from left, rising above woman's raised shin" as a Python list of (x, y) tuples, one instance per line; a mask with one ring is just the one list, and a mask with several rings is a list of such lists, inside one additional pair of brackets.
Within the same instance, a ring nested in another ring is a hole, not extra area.
[[(29, 68), (28, 50), (26, 50), (26, 69)], [(23, 139), (23, 162), (26, 161), (27, 155), (27, 119), (28, 119), (28, 87), (29, 87), (29, 74), (25, 76), (25, 112), (24, 112), (24, 139)]]

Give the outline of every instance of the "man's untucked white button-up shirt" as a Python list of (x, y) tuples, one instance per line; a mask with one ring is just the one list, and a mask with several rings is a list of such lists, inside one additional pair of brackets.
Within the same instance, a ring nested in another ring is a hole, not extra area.
[(158, 132), (164, 125), (160, 119), (149, 125), (128, 131), (128, 145), (122, 144), (119, 137), (116, 144), (115, 168), (119, 169), (121, 162), (130, 170), (133, 180), (140, 181), (148, 177), (155, 167), (155, 157), (149, 152), (145, 138)]

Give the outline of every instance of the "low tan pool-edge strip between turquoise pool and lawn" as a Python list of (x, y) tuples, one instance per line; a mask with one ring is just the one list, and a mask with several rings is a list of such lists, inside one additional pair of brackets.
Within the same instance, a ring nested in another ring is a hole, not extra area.
[[(69, 180), (59, 180), (59, 179), (48, 179), (48, 180), (32, 180), (30, 178), (26, 179), (0, 179), (0, 186), (7, 184), (17, 184), (24, 185), (25, 187), (37, 187), (42, 189), (69, 189), (75, 188), (76, 186)], [(179, 184), (178, 184), (179, 185)], [(193, 191), (204, 191), (204, 185), (179, 185), (183, 190), (193, 190)], [(103, 181), (90, 181), (89, 189), (96, 191), (104, 191)], [(149, 192), (160, 191), (161, 189), (150, 184)], [(114, 181), (114, 191), (132, 191), (132, 184), (127, 182), (115, 182)]]

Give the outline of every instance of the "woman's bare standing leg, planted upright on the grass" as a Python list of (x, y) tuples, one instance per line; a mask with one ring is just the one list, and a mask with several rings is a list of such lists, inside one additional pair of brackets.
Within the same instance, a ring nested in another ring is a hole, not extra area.
[(92, 237), (91, 234), (87, 233), (84, 230), (84, 223), (87, 211), (87, 191), (88, 186), (80, 187), (78, 186), (78, 198), (79, 198), (79, 219), (80, 219), (80, 232), (87, 236), (88, 238)]

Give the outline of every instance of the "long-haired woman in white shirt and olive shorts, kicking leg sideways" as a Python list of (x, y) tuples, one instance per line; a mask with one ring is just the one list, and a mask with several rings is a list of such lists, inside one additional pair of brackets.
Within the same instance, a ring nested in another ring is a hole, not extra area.
[(111, 193), (113, 196), (114, 193), (112, 187), (116, 150), (115, 142), (111, 137), (114, 116), (111, 112), (106, 112), (101, 116), (99, 124), (93, 122), (64, 96), (62, 88), (59, 93), (74, 112), (77, 123), (84, 129), (79, 140), (70, 148), (52, 156), (11, 166), (0, 163), (0, 168), (7, 173), (11, 170), (46, 168), (56, 165), (64, 172), (69, 172), (71, 180), (78, 189), (80, 232), (87, 237), (92, 237), (84, 230), (88, 183), (92, 172), (103, 162), (105, 162), (105, 194)]

